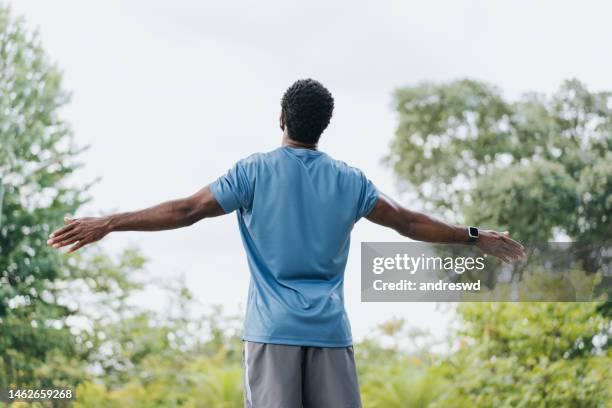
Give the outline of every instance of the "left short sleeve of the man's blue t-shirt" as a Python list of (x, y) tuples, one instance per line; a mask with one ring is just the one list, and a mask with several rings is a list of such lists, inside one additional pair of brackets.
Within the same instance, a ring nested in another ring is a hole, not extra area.
[(253, 185), (248, 172), (244, 160), (241, 160), (209, 186), (226, 213), (251, 206)]

